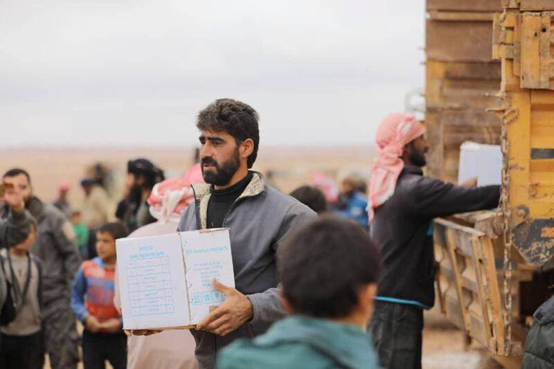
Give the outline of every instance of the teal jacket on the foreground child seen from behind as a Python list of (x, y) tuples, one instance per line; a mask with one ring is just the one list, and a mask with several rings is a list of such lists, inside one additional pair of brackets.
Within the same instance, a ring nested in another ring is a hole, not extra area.
[(217, 369), (379, 368), (368, 334), (353, 325), (290, 316), (252, 341), (235, 341), (217, 357)]

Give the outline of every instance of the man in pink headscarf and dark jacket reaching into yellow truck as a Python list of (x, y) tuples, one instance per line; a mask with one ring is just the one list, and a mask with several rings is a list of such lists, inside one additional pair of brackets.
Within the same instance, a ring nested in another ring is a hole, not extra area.
[(391, 114), (375, 136), (369, 210), (383, 270), (368, 331), (387, 369), (421, 368), (423, 309), (435, 302), (433, 219), (494, 208), (500, 198), (500, 186), (454, 186), (423, 176), (425, 133), (413, 116)]

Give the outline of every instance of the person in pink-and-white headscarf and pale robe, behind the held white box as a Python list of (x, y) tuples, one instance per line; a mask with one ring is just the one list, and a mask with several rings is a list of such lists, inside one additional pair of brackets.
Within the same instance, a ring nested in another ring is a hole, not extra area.
[[(166, 235), (177, 231), (177, 224), (186, 208), (193, 203), (194, 194), (190, 179), (197, 183), (202, 179), (193, 171), (186, 177), (167, 179), (157, 183), (148, 197), (150, 214), (158, 222), (142, 226), (129, 237)], [(116, 277), (117, 278), (117, 277)], [(116, 284), (114, 296), (120, 308)], [(152, 336), (129, 336), (127, 339), (127, 368), (196, 369), (195, 340), (188, 330), (166, 330)]]

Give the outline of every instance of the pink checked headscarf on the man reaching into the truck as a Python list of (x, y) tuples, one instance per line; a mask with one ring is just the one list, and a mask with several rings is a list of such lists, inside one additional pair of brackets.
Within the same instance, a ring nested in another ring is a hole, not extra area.
[(373, 210), (394, 195), (396, 181), (404, 168), (404, 146), (425, 132), (427, 129), (419, 120), (400, 113), (389, 114), (379, 125), (375, 135), (377, 160), (368, 186), (370, 222), (373, 220)]

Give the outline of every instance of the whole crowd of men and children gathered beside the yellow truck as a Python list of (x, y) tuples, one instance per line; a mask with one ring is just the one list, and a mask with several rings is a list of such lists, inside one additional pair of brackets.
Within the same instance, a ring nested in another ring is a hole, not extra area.
[[(258, 113), (215, 100), (197, 116), (199, 164), (165, 179), (129, 161), (110, 213), (101, 183), (84, 178), (80, 212), (66, 183), (54, 204), (22, 169), (3, 175), (0, 367), (420, 368), (423, 311), (434, 305), (434, 217), (494, 208), (499, 186), (425, 177), (429, 143), (418, 120), (379, 126), (366, 186), (325, 176), (285, 195), (253, 170)], [(230, 228), (235, 287), (193, 330), (123, 332), (116, 239)], [(89, 246), (93, 244), (93, 247)], [(76, 321), (84, 330), (78, 334)], [(82, 348), (82, 354), (78, 346)]]

